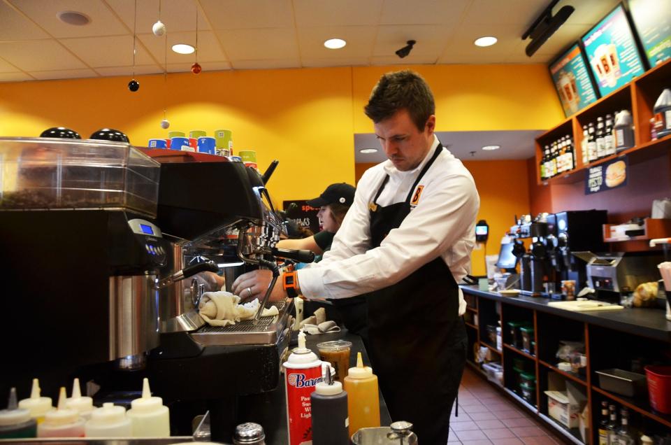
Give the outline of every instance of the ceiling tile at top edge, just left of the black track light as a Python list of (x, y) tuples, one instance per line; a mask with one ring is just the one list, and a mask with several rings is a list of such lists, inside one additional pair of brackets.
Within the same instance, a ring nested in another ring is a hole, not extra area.
[(461, 23), (518, 24), (521, 37), (548, 3), (545, 0), (473, 0)]

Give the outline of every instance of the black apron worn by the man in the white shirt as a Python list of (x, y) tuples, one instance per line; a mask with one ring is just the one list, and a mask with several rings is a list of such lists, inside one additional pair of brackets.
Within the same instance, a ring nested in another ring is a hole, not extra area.
[[(438, 145), (405, 202), (370, 205), (372, 248), (410, 213), (414, 189), (442, 152)], [(417, 200), (417, 199), (415, 199)], [(392, 421), (414, 425), (420, 444), (447, 444), (449, 417), (466, 365), (466, 327), (459, 287), (442, 257), (387, 288), (370, 292), (366, 348)]]

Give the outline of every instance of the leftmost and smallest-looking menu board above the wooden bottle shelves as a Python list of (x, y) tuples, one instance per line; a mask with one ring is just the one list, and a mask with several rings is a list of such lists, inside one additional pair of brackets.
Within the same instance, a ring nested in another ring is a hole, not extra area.
[(566, 117), (596, 101), (596, 91), (577, 43), (550, 64), (550, 74)]

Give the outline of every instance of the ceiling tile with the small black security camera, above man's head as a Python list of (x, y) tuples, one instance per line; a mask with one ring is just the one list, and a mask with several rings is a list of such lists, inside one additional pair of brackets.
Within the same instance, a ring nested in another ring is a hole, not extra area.
[(410, 56), (432, 56), (434, 59), (438, 59), (454, 34), (454, 30), (454, 27), (432, 24), (380, 26), (377, 31), (373, 54), (376, 56), (393, 56), (396, 50), (406, 45), (407, 41), (414, 40), (417, 43), (412, 48)]

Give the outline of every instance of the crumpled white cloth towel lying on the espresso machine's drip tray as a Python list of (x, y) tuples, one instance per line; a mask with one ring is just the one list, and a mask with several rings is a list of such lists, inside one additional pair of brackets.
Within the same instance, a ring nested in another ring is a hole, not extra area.
[[(235, 325), (240, 320), (250, 320), (259, 310), (259, 299), (240, 304), (240, 297), (225, 290), (219, 292), (205, 292), (198, 304), (199, 313), (210, 326)], [(277, 307), (264, 309), (262, 317), (276, 316)]]

